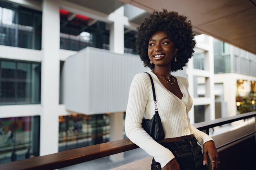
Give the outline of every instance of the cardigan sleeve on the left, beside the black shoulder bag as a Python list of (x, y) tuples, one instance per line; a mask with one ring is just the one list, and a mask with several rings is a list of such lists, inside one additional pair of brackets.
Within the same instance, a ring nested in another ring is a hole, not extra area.
[(153, 156), (155, 161), (162, 167), (175, 158), (173, 153), (158, 144), (142, 128), (142, 118), (148, 102), (148, 86), (144, 77), (140, 74), (135, 75), (130, 86), (128, 105), (126, 110), (125, 131), (127, 137), (137, 146)]

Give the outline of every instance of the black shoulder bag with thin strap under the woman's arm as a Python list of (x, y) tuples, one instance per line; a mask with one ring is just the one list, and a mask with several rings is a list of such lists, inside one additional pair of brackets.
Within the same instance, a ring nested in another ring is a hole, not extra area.
[[(147, 73), (147, 72), (144, 72), (144, 73)], [(158, 114), (154, 82), (151, 75), (149, 73), (147, 74), (150, 77), (150, 81), (152, 85), (152, 91), (153, 91), (153, 97), (154, 97), (154, 103), (155, 103), (155, 115), (152, 117), (152, 119), (146, 119), (145, 117), (143, 117), (142, 127), (155, 141), (161, 141), (164, 139), (164, 129), (161, 123), (161, 118)]]

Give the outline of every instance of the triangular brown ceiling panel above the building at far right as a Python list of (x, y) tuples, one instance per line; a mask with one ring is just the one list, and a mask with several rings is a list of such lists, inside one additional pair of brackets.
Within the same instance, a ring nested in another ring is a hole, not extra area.
[[(220, 18), (197, 27), (218, 36), (226, 42), (233, 42), (234, 45), (256, 53), (255, 19), (256, 9), (253, 7), (243, 12), (229, 15), (228, 17)], [(245, 39), (250, 41), (247, 43), (245, 42)]]

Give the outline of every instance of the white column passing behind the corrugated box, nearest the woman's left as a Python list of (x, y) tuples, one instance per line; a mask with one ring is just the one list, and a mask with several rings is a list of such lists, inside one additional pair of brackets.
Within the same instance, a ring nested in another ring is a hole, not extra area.
[[(109, 15), (110, 25), (110, 51), (124, 54), (124, 7), (120, 7)], [(124, 113), (111, 113), (110, 115), (110, 141), (124, 139)], [(124, 152), (111, 155), (111, 161), (120, 161), (124, 159)]]

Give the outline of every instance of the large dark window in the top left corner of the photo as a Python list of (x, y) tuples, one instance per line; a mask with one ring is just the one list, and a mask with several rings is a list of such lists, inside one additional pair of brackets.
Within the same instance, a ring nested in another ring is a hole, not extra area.
[(42, 12), (0, 1), (0, 45), (41, 49)]

